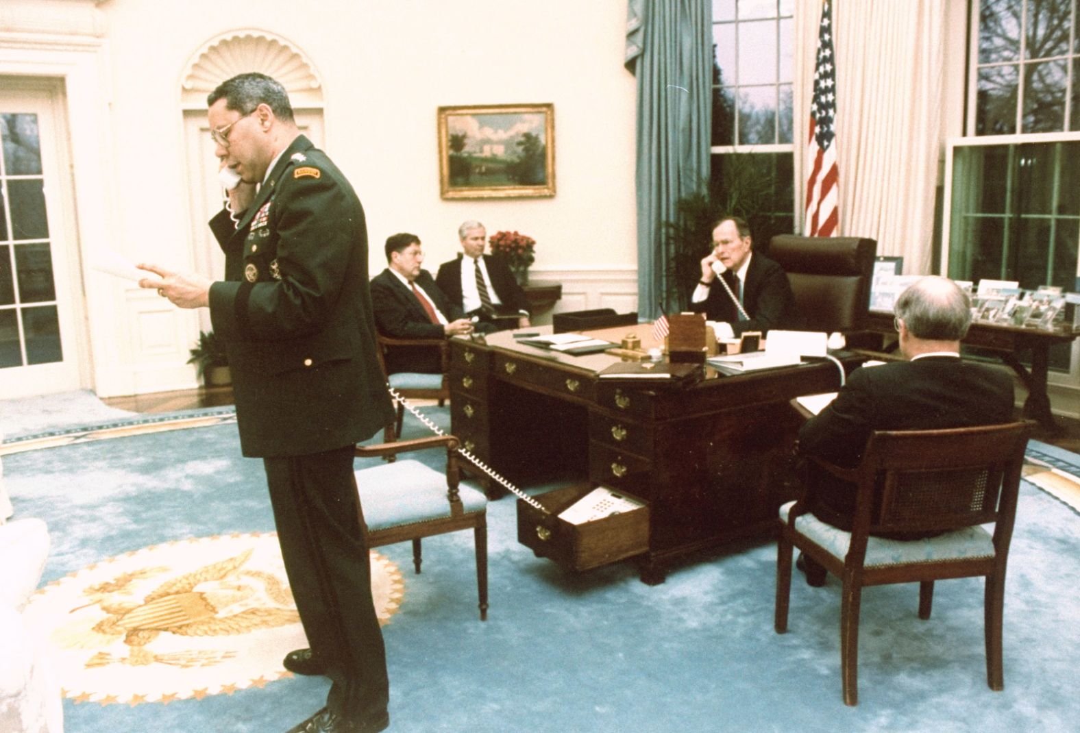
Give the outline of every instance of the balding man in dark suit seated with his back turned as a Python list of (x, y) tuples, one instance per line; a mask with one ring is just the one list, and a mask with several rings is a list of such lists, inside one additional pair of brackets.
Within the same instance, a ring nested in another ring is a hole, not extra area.
[[(968, 296), (947, 277), (923, 277), (896, 299), (895, 326), (904, 362), (861, 367), (825, 409), (799, 430), (798, 452), (855, 467), (872, 431), (942, 430), (1010, 422), (1013, 382), (1008, 372), (960, 358), (971, 325)], [(855, 486), (807, 461), (804, 483), (810, 512), (851, 531)], [(926, 534), (889, 534), (914, 540)], [(820, 585), (825, 569), (799, 556), (807, 582)]]

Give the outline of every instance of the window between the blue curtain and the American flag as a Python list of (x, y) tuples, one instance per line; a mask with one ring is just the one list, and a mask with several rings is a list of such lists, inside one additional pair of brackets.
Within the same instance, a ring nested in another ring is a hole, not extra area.
[[(713, 0), (714, 200), (743, 202), (759, 243), (795, 230), (794, 0)], [(739, 189), (739, 190), (733, 190)]]

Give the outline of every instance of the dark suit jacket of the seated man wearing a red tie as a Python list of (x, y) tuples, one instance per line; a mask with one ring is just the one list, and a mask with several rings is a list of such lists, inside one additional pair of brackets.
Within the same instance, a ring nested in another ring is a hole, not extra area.
[[(431, 273), (420, 270), (416, 284), (435, 303), (447, 321), (464, 317), (458, 306), (446, 299)], [(442, 324), (431, 323), (428, 312), (413, 295), (413, 290), (390, 272), (389, 268), (372, 279), (372, 301), (375, 304), (375, 323), (379, 332), (397, 339), (442, 339), (446, 331)], [(443, 370), (436, 349), (397, 347), (387, 353), (387, 371), (421, 371), (438, 374)]]

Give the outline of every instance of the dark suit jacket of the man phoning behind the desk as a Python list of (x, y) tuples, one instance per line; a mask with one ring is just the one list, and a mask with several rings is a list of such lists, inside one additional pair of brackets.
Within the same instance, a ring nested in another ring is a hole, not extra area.
[[(690, 303), (694, 313), (704, 313), (710, 321), (726, 321), (739, 336), (743, 331), (770, 328), (797, 329), (802, 326), (802, 315), (795, 304), (795, 295), (783, 268), (768, 257), (755, 252), (746, 268), (743, 284), (743, 308), (750, 321), (739, 320), (739, 309), (720, 284), (720, 276), (708, 286), (708, 297)], [(733, 288), (732, 288), (733, 289)], [(739, 293), (734, 295), (738, 297)]]

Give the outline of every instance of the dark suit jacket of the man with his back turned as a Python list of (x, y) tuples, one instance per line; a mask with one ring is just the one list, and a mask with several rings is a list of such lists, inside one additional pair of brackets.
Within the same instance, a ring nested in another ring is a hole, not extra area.
[[(799, 451), (854, 467), (875, 430), (940, 430), (1010, 422), (1013, 383), (1004, 371), (953, 356), (855, 369), (820, 415), (799, 430)], [(815, 469), (815, 466), (814, 466)], [(850, 530), (854, 487), (811, 470), (810, 511)]]

